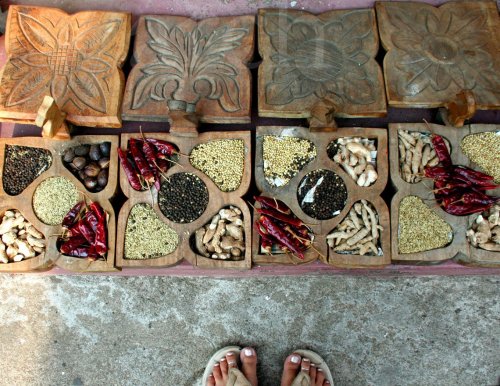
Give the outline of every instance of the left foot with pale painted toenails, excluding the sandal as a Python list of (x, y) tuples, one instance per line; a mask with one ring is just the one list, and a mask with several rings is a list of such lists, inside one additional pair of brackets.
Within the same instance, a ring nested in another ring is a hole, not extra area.
[[(240, 353), (241, 366), (239, 367), (243, 375), (252, 386), (257, 386), (257, 354), (251, 347), (245, 347)], [(214, 366), (212, 374), (208, 377), (207, 386), (226, 386), (229, 369), (238, 367), (236, 354), (230, 352)]]

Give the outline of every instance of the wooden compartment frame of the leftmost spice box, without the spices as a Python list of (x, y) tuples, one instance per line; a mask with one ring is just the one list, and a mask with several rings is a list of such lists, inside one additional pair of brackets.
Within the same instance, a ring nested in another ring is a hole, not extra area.
[[(62, 162), (62, 154), (65, 149), (80, 144), (94, 144), (101, 142), (111, 142), (111, 154), (109, 164), (108, 185), (99, 193), (89, 192), (80, 180), (74, 176)], [(5, 146), (18, 145), (42, 148), (50, 151), (52, 156), (52, 165), (48, 170), (38, 176), (33, 182), (19, 195), (10, 196), (3, 190), (3, 165), (5, 160)], [(57, 141), (39, 137), (22, 137), (22, 138), (0, 138), (0, 214), (5, 210), (17, 209), (21, 214), (31, 222), (36, 229), (42, 232), (47, 242), (45, 253), (40, 254), (34, 259), (28, 259), (19, 263), (0, 264), (0, 272), (27, 272), (32, 270), (47, 269), (51, 266), (76, 271), (76, 272), (106, 272), (116, 271), (115, 268), (115, 235), (116, 235), (116, 219), (114, 209), (109, 202), (117, 188), (118, 162), (117, 152), (118, 136), (110, 135), (92, 135), (92, 136), (76, 136), (70, 141)], [(108, 222), (108, 253), (106, 260), (96, 260), (90, 262), (87, 259), (80, 259), (71, 256), (65, 256), (59, 253), (56, 247), (57, 237), (53, 235), (61, 234), (62, 228), (60, 225), (50, 226), (44, 224), (38, 219), (33, 211), (32, 201), (33, 193), (38, 185), (51, 177), (65, 177), (70, 180), (76, 188), (85, 192), (87, 197), (92, 201), (97, 201), (102, 208), (109, 214)], [(31, 261), (33, 260), (33, 261)]]

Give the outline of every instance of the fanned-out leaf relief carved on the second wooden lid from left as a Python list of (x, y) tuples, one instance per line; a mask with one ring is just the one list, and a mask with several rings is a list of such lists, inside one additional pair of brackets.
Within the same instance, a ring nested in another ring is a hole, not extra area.
[(141, 68), (131, 101), (140, 109), (150, 100), (165, 101), (171, 108), (194, 111), (201, 98), (217, 100), (226, 112), (241, 109), (235, 66), (226, 55), (241, 45), (245, 28), (217, 27), (184, 30), (154, 17), (145, 18), (148, 47), (156, 60)]

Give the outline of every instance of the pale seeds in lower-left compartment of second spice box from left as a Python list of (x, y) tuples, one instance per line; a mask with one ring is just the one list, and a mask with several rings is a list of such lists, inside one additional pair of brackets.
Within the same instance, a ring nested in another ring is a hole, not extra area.
[(124, 258), (155, 259), (171, 254), (179, 244), (179, 236), (161, 221), (150, 205), (132, 207), (125, 229)]

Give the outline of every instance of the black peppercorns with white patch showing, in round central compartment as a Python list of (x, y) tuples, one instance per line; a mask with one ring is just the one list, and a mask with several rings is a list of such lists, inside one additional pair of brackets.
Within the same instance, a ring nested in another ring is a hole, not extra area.
[(327, 220), (344, 209), (347, 188), (342, 178), (331, 170), (313, 170), (300, 181), (297, 200), (308, 216)]

